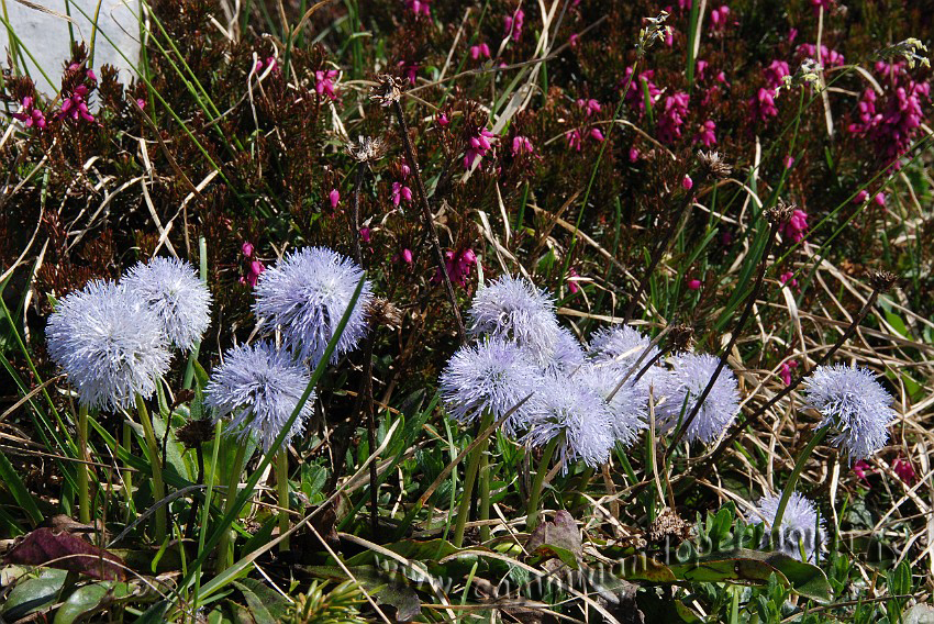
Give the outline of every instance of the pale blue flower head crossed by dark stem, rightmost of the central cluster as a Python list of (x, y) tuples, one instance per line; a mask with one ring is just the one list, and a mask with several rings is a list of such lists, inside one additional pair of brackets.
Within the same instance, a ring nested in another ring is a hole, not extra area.
[[(690, 415), (719, 361), (720, 358), (709, 354), (685, 354), (672, 358), (671, 370), (658, 376), (655, 382), (655, 397), (661, 400), (655, 410), (660, 431), (674, 430), (679, 420)], [(736, 376), (729, 367), (724, 367), (688, 426), (685, 439), (688, 444), (694, 441), (713, 442), (733, 423), (738, 412)]]

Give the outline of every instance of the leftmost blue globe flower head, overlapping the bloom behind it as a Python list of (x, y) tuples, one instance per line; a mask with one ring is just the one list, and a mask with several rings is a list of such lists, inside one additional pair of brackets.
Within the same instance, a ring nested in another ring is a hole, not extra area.
[(88, 409), (129, 408), (136, 394), (148, 399), (171, 359), (158, 317), (108, 281), (62, 299), (45, 335), (48, 355)]

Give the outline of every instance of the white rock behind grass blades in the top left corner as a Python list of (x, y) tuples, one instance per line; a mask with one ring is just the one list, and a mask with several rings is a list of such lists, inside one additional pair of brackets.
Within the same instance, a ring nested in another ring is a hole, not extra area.
[[(68, 9), (66, 9), (65, 0), (31, 0), (31, 2), (53, 13), (32, 9), (16, 0), (5, 0), (7, 14), (16, 37), (52, 82), (43, 77), (36, 69), (36, 64), (23, 51), (21, 54), (30, 76), (35, 80), (36, 88), (52, 98), (62, 87), (65, 62), (71, 57), (68, 21), (64, 18)], [(98, 2), (97, 0), (70, 0), (68, 3), (75, 41), (84, 41), (90, 49), (91, 20), (97, 11)], [(101, 2), (92, 66), (98, 79), (100, 79), (100, 68), (104, 65), (119, 68), (120, 79), (124, 85), (136, 75), (136, 65), (140, 63), (138, 14), (138, 0), (103, 0)], [(10, 49), (10, 36), (7, 29), (2, 26), (2, 22), (0, 22), (0, 44), (2, 44), (2, 57), (5, 62), (7, 52)], [(16, 63), (20, 63), (19, 58)]]

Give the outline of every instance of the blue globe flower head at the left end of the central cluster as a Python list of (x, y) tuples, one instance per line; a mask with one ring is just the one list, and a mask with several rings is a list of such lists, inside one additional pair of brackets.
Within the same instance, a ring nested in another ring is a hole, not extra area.
[[(542, 372), (529, 354), (513, 342), (487, 337), (464, 345), (451, 357), (441, 374), (441, 397), (451, 416), (469, 423), (485, 411), (503, 417), (542, 382)], [(503, 432), (514, 436), (525, 426), (532, 399), (503, 423)]]

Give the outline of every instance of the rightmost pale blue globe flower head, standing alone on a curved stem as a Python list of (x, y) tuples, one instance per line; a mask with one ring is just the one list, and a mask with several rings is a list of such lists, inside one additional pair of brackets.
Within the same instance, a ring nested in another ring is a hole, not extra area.
[(891, 394), (871, 370), (842, 364), (819, 366), (804, 386), (808, 406), (824, 416), (818, 427), (831, 427), (831, 443), (850, 460), (869, 457), (886, 445), (888, 424), (897, 414)]

